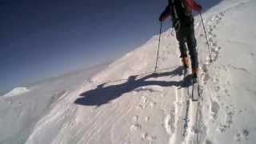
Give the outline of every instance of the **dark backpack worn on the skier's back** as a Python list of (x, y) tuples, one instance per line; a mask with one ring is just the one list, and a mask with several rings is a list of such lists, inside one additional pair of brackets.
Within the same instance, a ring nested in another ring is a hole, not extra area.
[(179, 29), (180, 26), (191, 26), (191, 24), (194, 24), (194, 18), (184, 1), (185, 0), (169, 0), (170, 14), (175, 29)]

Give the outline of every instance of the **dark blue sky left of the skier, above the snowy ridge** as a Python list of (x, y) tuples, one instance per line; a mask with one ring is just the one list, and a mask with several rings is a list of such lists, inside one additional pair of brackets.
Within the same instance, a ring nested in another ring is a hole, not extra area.
[(0, 0), (0, 91), (121, 57), (158, 34), (166, 4)]

